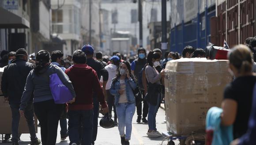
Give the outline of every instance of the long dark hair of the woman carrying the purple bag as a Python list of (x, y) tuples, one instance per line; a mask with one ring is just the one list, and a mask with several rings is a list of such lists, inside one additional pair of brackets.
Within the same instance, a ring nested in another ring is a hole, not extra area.
[(39, 75), (40, 71), (50, 62), (50, 53), (45, 50), (41, 50), (36, 55), (36, 64), (34, 67), (35, 74)]

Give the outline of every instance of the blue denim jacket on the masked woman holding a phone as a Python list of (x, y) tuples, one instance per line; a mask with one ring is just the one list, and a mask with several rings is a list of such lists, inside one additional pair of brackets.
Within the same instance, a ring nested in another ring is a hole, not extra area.
[[(130, 77), (129, 79), (125, 78), (124, 80), (125, 85), (126, 85), (126, 96), (127, 96), (127, 100), (129, 103), (135, 103), (135, 97), (133, 94), (134, 89), (136, 89), (137, 84), (132, 80), (132, 78)], [(115, 105), (118, 105), (119, 102), (119, 98), (120, 98), (120, 94), (119, 91), (120, 90), (120, 78), (118, 78), (118, 80), (113, 83), (111, 83), (111, 87), (109, 89), (110, 94), (115, 96)]]

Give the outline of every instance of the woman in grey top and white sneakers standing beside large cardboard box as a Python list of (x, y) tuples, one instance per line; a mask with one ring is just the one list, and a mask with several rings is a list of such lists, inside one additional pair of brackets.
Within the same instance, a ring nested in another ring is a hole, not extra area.
[(156, 113), (158, 111), (160, 101), (161, 101), (161, 78), (164, 76), (164, 69), (159, 73), (156, 67), (159, 65), (159, 57), (160, 55), (157, 53), (153, 53), (153, 51), (149, 52), (147, 55), (147, 66), (145, 68), (145, 76), (148, 82), (148, 91), (145, 97), (148, 102), (149, 110), (148, 110), (148, 127), (149, 130), (147, 132), (148, 137), (160, 137), (162, 136), (156, 129)]

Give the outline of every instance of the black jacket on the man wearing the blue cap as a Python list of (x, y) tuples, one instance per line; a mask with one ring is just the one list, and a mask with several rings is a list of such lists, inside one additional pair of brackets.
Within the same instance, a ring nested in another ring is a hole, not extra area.
[(93, 58), (88, 58), (86, 64), (97, 72), (98, 79), (100, 79), (102, 76), (103, 81), (109, 80), (109, 72), (105, 69), (105, 66), (102, 62), (95, 60)]

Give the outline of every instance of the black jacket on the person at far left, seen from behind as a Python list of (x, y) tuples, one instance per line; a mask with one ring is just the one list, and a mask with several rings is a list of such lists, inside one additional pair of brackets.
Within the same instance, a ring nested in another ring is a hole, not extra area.
[(15, 59), (4, 69), (1, 89), (4, 97), (8, 97), (9, 103), (20, 103), (26, 78), (33, 68), (34, 64), (32, 63), (26, 62), (23, 59)]

